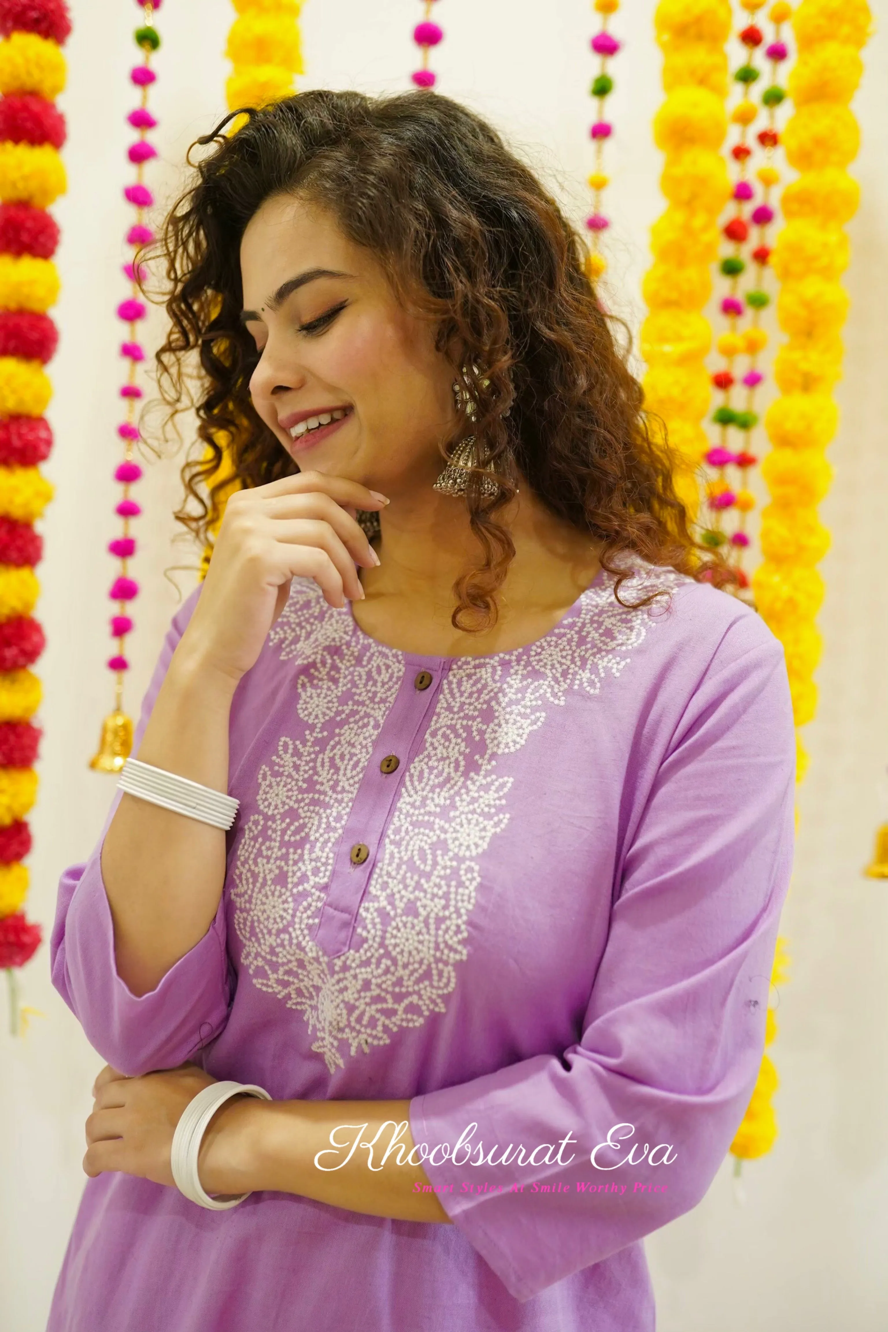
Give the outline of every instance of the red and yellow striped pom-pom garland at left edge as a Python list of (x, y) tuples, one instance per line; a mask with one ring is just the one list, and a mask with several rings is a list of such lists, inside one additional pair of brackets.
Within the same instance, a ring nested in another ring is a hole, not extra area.
[(45, 647), (33, 618), (43, 558), (33, 525), (53, 494), (40, 473), (52, 449), (44, 365), (59, 340), (47, 313), (59, 296), (59, 228), (47, 209), (65, 190), (65, 121), (55, 99), (65, 85), (69, 32), (61, 0), (0, 0), (0, 968), (13, 1035), (21, 1031), (17, 971), (41, 940), (23, 910), (23, 862), (41, 734), (32, 721), (41, 686), (31, 667)]

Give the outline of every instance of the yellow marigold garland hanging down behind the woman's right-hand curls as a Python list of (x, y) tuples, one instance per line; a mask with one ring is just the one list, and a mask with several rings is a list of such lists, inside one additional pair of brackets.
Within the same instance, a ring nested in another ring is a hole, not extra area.
[(647, 362), (644, 405), (666, 425), (680, 465), (675, 488), (691, 518), (699, 510), (696, 474), (710, 448), (706, 357), (712, 330), (703, 309), (712, 292), (719, 217), (731, 182), (720, 153), (727, 133), (730, 0), (660, 0), (656, 40), (666, 99), (654, 139), (666, 155), (660, 188), (666, 212), (651, 229), (654, 264), (643, 281), (648, 316), (640, 348)]

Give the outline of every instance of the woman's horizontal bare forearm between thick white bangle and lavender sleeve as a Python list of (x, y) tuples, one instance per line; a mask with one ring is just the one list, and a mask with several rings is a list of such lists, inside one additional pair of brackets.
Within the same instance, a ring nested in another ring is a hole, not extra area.
[(414, 1147), (409, 1100), (245, 1096), (212, 1120), (198, 1169), (209, 1193), (272, 1189), (367, 1216), (450, 1221), (422, 1166), (407, 1160), (418, 1160)]

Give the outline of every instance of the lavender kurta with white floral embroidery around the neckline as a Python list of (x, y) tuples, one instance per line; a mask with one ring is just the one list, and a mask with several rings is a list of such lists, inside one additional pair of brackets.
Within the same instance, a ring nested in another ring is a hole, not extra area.
[(206, 935), (133, 998), (104, 830), (65, 871), (53, 982), (104, 1059), (409, 1098), (454, 1224), (100, 1175), (48, 1332), (651, 1332), (640, 1241), (704, 1195), (764, 1048), (795, 745), (763, 621), (636, 569), (623, 599), (666, 589), (652, 607), (599, 574), (538, 642), (462, 658), (377, 643), (294, 579), (234, 694)]

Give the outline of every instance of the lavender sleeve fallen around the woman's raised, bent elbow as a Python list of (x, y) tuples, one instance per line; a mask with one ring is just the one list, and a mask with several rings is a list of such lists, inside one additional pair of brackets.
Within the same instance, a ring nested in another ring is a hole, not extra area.
[[(141, 705), (132, 753), (138, 753), (154, 699), (200, 595), (194, 589), (173, 617)], [(218, 1035), (229, 1011), (225, 911), (176, 962), (154, 990), (136, 996), (117, 974), (111, 907), (101, 874), (101, 848), (120, 805), (117, 787), (99, 842), (85, 863), (61, 875), (49, 943), (52, 983), (87, 1039), (120, 1072), (138, 1076), (174, 1068)]]

